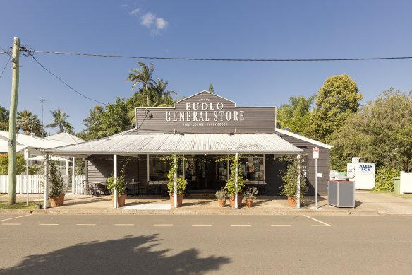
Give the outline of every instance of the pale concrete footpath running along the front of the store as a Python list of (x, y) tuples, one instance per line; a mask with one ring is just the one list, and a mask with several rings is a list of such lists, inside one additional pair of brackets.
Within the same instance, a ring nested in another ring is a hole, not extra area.
[[(30, 194), (30, 201), (39, 201), (39, 194)], [(0, 196), (1, 201), (7, 196)], [(255, 199), (253, 207), (243, 204), (241, 209), (219, 207), (214, 195), (189, 195), (183, 199), (183, 206), (170, 208), (169, 197), (127, 197), (126, 206), (114, 209), (109, 196), (86, 197), (66, 194), (64, 206), (48, 209), (4, 209), (0, 213), (36, 214), (140, 214), (140, 215), (395, 215), (412, 216), (412, 198), (394, 197), (391, 194), (376, 194), (357, 191), (355, 208), (337, 208), (327, 204), (327, 197), (306, 197), (300, 209), (288, 206), (286, 197), (262, 196)], [(25, 201), (25, 195), (16, 194), (16, 201)]]

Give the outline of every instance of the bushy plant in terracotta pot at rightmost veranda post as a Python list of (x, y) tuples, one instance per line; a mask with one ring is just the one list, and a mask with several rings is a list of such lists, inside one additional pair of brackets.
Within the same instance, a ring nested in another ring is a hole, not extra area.
[[(302, 159), (302, 158), (301, 158)], [(281, 186), (282, 195), (288, 197), (288, 204), (290, 207), (296, 207), (298, 186), (300, 187), (300, 200), (303, 201), (305, 192), (308, 192), (308, 185), (306, 185), (306, 177), (303, 170), (300, 169), (302, 163), (301, 160), (296, 158), (296, 156), (286, 156), (281, 158), (281, 160), (288, 163), (288, 168), (283, 172), (281, 179), (284, 185)], [(298, 184), (299, 180), (299, 184)]]

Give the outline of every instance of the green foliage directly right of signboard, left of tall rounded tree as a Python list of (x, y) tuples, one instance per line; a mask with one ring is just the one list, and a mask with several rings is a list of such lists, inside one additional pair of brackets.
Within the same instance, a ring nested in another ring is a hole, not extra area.
[(310, 107), (316, 100), (316, 95), (309, 98), (291, 96), (289, 104), (282, 104), (277, 109), (277, 127), (284, 129), (288, 127), (293, 133), (303, 134), (310, 122)]

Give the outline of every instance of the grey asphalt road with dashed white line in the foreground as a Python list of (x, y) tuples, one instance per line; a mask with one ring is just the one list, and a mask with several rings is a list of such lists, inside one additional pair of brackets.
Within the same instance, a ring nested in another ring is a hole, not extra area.
[(408, 216), (0, 215), (0, 274), (411, 274)]

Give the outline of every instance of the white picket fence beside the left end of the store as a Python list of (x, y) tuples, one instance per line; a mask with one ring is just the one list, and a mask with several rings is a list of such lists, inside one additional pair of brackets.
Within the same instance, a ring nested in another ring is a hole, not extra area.
[[(36, 194), (44, 192), (42, 187), (43, 175), (28, 176), (29, 177), (29, 193)], [(27, 192), (26, 175), (17, 176), (16, 194), (25, 194)], [(83, 181), (86, 176), (75, 176), (72, 184), (73, 194), (84, 194)], [(8, 193), (8, 175), (0, 175), (0, 193)]]

